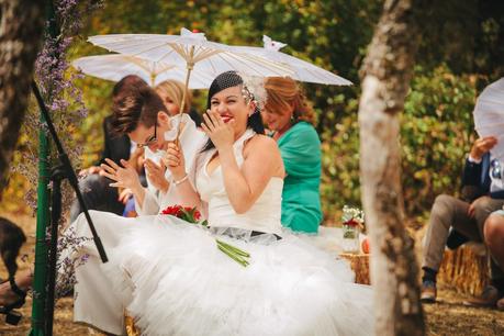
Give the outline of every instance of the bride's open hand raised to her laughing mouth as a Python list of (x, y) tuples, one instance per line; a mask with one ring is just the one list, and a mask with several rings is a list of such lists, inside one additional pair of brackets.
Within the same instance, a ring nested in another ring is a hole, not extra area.
[(232, 147), (234, 143), (234, 120), (225, 123), (219, 112), (206, 110), (203, 114), (204, 123), (201, 124), (204, 133), (210, 137), (217, 150)]

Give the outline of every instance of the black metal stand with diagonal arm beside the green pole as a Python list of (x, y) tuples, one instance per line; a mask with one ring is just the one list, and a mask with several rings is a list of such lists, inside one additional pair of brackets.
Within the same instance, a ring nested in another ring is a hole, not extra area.
[(58, 135), (56, 134), (56, 130), (54, 128), (53, 122), (51, 121), (49, 113), (45, 107), (44, 100), (38, 91), (38, 87), (36, 86), (35, 81), (32, 81), (32, 89), (35, 98), (37, 100), (38, 107), (44, 115), (44, 119), (47, 123), (47, 127), (49, 133), (56, 144), (56, 148), (58, 150), (58, 158), (60, 165), (57, 166), (52, 173), (51, 180), (53, 181), (53, 197), (52, 197), (52, 224), (51, 224), (51, 246), (49, 246), (49, 261), (48, 261), (48, 279), (47, 279), (47, 321), (46, 321), (46, 333), (45, 335), (53, 335), (53, 322), (54, 322), (54, 299), (55, 299), (55, 284), (56, 284), (56, 261), (57, 261), (57, 240), (58, 240), (58, 223), (61, 216), (61, 181), (64, 179), (68, 179), (70, 186), (74, 188), (77, 199), (83, 210), (85, 216), (88, 220), (89, 228), (91, 231), (92, 237), (94, 239), (94, 244), (97, 246), (98, 253), (102, 262), (109, 261), (107, 258), (105, 250), (101, 243), (100, 237), (94, 228), (94, 225), (91, 221), (91, 216), (89, 215), (88, 208), (86, 206), (86, 202), (83, 201), (82, 193), (79, 190), (79, 183), (77, 180), (77, 176), (71, 167), (70, 159), (68, 158), (65, 149), (63, 148), (61, 143), (59, 142)]

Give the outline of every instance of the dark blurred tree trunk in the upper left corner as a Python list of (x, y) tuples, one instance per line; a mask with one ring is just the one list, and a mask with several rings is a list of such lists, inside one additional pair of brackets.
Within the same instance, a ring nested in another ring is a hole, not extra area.
[(45, 1), (0, 1), (0, 194), (26, 111)]

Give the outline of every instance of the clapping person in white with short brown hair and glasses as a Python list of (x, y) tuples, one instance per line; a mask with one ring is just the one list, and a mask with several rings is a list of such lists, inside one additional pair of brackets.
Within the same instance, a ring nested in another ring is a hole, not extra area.
[[(112, 116), (115, 134), (127, 135), (138, 148), (147, 147), (146, 176), (155, 192), (139, 183), (136, 171), (126, 160), (121, 160), (120, 165), (107, 160), (107, 164), (102, 165), (103, 175), (115, 181), (111, 186), (131, 189), (139, 214), (157, 214), (161, 205), (176, 204), (178, 197), (170, 190), (171, 173), (159, 158), (177, 130), (160, 97), (147, 85), (127, 87), (122, 99), (114, 101)], [(205, 135), (197, 130), (194, 122), (189, 117), (186, 117), (182, 124), (179, 141), (187, 167), (190, 167), (205, 142)], [(159, 160), (159, 164), (156, 160)]]

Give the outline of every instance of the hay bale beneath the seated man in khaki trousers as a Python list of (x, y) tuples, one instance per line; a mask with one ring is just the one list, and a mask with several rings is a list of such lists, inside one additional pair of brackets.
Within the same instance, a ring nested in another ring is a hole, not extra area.
[(489, 275), (484, 245), (468, 243), (456, 250), (445, 250), (437, 281), (458, 292), (478, 295), (489, 284)]

